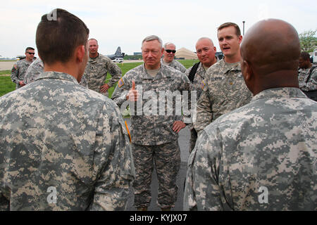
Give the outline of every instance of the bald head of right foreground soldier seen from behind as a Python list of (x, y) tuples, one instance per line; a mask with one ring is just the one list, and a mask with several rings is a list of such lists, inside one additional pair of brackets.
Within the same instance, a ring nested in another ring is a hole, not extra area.
[[(244, 79), (252, 78), (257, 89), (298, 86), (297, 68), (300, 54), (299, 36), (283, 20), (261, 20), (245, 34), (241, 44)], [(249, 76), (245, 76), (245, 75)], [(247, 83), (247, 80), (246, 80)], [(254, 91), (252, 91), (254, 92)]]

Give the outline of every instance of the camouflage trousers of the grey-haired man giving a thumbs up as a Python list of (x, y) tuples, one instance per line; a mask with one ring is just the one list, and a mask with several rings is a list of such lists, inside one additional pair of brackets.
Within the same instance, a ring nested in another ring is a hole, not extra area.
[(155, 167), (159, 183), (157, 204), (161, 208), (175, 207), (178, 195), (176, 176), (180, 170), (178, 140), (159, 146), (132, 144), (135, 162), (135, 207), (149, 207), (151, 203), (151, 178)]

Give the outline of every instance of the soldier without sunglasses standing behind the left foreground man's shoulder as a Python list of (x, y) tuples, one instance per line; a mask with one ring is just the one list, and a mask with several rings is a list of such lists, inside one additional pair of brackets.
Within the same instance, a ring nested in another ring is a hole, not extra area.
[[(122, 72), (110, 58), (98, 53), (99, 46), (96, 39), (89, 39), (88, 45), (89, 60), (80, 84), (108, 96), (108, 89), (118, 82)], [(105, 84), (107, 72), (110, 73), (111, 79)]]

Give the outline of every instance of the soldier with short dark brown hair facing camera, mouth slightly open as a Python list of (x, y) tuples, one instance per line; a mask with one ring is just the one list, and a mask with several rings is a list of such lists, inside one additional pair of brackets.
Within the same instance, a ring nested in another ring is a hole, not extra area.
[(194, 122), (198, 135), (220, 115), (249, 103), (252, 96), (240, 68), (240, 28), (235, 23), (220, 25), (218, 40), (225, 58), (206, 72), (204, 91), (197, 102), (197, 120)]

